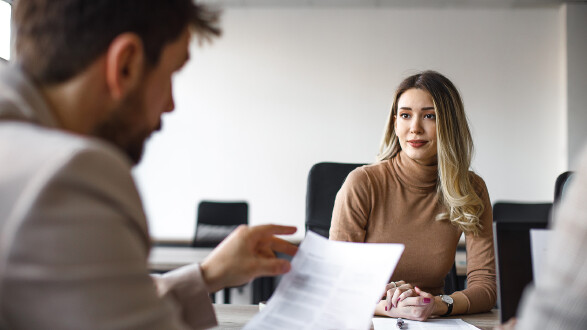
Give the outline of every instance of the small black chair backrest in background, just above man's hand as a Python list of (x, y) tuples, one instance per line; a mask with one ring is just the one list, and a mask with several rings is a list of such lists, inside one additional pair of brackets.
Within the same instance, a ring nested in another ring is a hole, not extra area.
[(192, 246), (215, 247), (238, 225), (248, 223), (247, 202), (202, 201), (198, 204), (196, 233)]

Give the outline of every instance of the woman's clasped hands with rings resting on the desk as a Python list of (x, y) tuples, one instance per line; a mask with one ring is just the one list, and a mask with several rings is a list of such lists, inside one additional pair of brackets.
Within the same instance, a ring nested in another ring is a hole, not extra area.
[(385, 286), (375, 314), (401, 317), (416, 321), (427, 320), (434, 311), (434, 296), (405, 281), (391, 282)]

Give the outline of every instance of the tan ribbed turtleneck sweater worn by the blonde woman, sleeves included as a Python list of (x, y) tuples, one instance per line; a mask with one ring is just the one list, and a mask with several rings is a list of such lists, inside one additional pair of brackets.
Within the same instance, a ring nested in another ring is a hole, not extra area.
[[(470, 172), (483, 200), (480, 234), (465, 234), (467, 288), (452, 296), (452, 314), (490, 310), (496, 301), (491, 202), (485, 182)], [(438, 202), (438, 167), (423, 166), (402, 152), (391, 160), (357, 168), (336, 196), (330, 239), (366, 243), (401, 243), (404, 253), (391, 281), (404, 280), (433, 295), (442, 293), (455, 260), (462, 231), (447, 220)]]

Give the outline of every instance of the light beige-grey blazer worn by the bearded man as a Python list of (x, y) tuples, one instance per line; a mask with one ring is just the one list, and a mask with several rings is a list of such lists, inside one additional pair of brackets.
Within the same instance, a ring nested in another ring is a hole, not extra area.
[(131, 166), (60, 130), (32, 82), (0, 68), (0, 328), (216, 325), (198, 265), (149, 275)]

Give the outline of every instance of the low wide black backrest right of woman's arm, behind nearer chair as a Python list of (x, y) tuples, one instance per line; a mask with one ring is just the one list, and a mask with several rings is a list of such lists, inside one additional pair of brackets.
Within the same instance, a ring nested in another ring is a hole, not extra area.
[(494, 222), (548, 223), (552, 203), (497, 202), (493, 204)]

